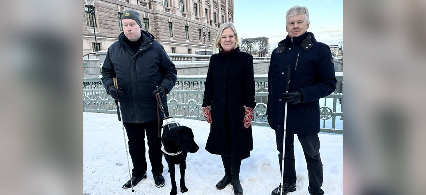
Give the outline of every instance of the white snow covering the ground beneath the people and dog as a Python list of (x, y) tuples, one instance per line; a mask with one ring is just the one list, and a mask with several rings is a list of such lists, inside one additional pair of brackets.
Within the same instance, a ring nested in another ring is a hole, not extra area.
[[(162, 188), (157, 188), (150, 171), (148, 152), (146, 152), (148, 178), (134, 186), (135, 192), (131, 192), (131, 188), (122, 189), (121, 186), (129, 179), (129, 173), (123, 131), (117, 115), (84, 112), (83, 120), (83, 195), (169, 195), (171, 185), (167, 163), (163, 158), (163, 176), (166, 184)], [(192, 128), (195, 142), (200, 146), (198, 152), (189, 153), (187, 157), (185, 183), (189, 191), (184, 195), (234, 195), (231, 185), (223, 190), (215, 188), (216, 183), (222, 179), (224, 170), (220, 156), (205, 150), (209, 124), (198, 120), (176, 120), (181, 125)], [(329, 195), (341, 195), (343, 136), (319, 133), (319, 140), (324, 172), (322, 189)], [(281, 178), (274, 130), (269, 127), (253, 126), (253, 142), (254, 149), (251, 156), (244, 159), (241, 164), (240, 180), (244, 195), (270, 195), (279, 185)], [(130, 155), (128, 156), (132, 168)], [(288, 195), (308, 195), (306, 161), (297, 136), (295, 136), (295, 158), (297, 190)], [(179, 191), (178, 170), (179, 167), (176, 166), (178, 194), (182, 194)]]

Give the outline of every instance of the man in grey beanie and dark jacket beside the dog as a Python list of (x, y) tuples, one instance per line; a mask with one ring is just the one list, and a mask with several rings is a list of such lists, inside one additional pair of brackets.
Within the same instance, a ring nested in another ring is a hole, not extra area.
[[(165, 115), (169, 115), (165, 95), (176, 82), (176, 67), (154, 36), (142, 30), (139, 13), (126, 10), (122, 16), (123, 32), (106, 54), (102, 66), (102, 82), (106, 92), (120, 100), (123, 124), (133, 162), (133, 185), (147, 178), (145, 132), (152, 174), (157, 187), (164, 186), (161, 138), (157, 134), (157, 108), (153, 94), (159, 93)], [(117, 78), (118, 89), (113, 78)], [(120, 120), (120, 115), (119, 115)], [(145, 131), (145, 132), (144, 132)], [(131, 187), (130, 180), (123, 188)]]

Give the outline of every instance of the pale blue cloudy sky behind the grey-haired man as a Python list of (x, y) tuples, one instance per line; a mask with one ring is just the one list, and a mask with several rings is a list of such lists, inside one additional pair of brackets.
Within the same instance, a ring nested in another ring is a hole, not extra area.
[(295, 5), (309, 10), (309, 32), (328, 45), (343, 40), (343, 0), (234, 0), (234, 23), (240, 38), (268, 37), (271, 48), (288, 35), (285, 14)]

